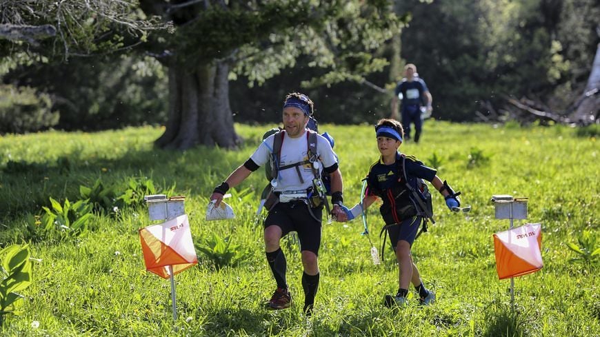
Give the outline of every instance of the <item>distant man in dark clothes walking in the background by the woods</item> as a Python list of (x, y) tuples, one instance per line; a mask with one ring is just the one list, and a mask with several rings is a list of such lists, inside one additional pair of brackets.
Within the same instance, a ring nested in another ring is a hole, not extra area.
[(398, 99), (402, 100), (401, 117), (404, 126), (405, 141), (410, 139), (410, 123), (414, 123), (414, 142), (419, 143), (421, 129), (423, 127), (423, 118), (421, 116), (421, 107), (427, 114), (431, 114), (431, 103), (433, 98), (423, 79), (417, 74), (417, 66), (408, 63), (404, 67), (405, 78), (402, 79), (394, 90), (392, 97), (392, 119), (397, 119)]

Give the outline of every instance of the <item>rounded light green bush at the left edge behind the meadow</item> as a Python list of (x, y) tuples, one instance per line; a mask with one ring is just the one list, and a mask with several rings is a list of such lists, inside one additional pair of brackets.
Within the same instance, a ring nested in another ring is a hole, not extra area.
[(0, 134), (35, 132), (57, 125), (48, 94), (34, 88), (0, 85)]

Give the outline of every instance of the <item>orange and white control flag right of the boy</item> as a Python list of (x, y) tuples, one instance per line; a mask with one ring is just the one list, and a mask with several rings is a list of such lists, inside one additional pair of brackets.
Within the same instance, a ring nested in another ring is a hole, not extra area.
[(494, 234), (498, 278), (511, 278), (543, 267), (541, 261), (541, 224), (525, 225)]

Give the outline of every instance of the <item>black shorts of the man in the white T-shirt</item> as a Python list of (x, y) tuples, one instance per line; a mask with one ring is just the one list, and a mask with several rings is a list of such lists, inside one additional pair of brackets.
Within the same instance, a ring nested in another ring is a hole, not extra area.
[[(312, 214), (321, 219), (322, 208), (312, 208)], [(296, 231), (300, 240), (300, 251), (308, 250), (319, 256), (321, 246), (321, 221), (315, 220), (308, 210), (308, 205), (303, 201), (290, 201), (277, 203), (269, 211), (264, 226), (278, 226), (282, 236)]]

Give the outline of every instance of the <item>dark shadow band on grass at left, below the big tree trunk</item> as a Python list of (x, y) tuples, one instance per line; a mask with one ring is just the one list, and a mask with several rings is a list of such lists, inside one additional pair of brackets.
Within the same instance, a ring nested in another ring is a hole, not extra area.
[(146, 176), (162, 190), (206, 195), (240, 164), (237, 152), (196, 147), (188, 151), (130, 150), (117, 159), (81, 157), (77, 153), (35, 163), (9, 161), (0, 167), (0, 214), (5, 219), (37, 213), (56, 200), (81, 198), (79, 187), (98, 178), (105, 185), (125, 184), (128, 177)]

